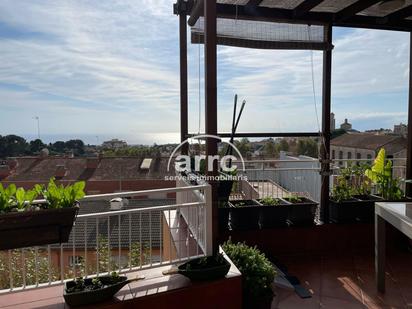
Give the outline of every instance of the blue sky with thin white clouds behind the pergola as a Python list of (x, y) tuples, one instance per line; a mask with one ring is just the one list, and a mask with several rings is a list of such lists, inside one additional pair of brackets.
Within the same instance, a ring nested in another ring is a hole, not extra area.
[[(178, 18), (169, 0), (0, 2), (0, 135), (47, 142), (176, 142)], [(354, 128), (406, 121), (409, 35), (335, 28), (332, 110)], [(200, 48), (201, 57), (198, 57)], [(318, 112), (322, 54), (314, 52)], [(229, 131), (233, 95), (247, 100), (239, 131), (317, 131), (309, 51), (218, 49), (219, 130)], [(198, 131), (198, 66), (189, 46), (191, 131)], [(201, 128), (201, 130), (202, 130)]]

